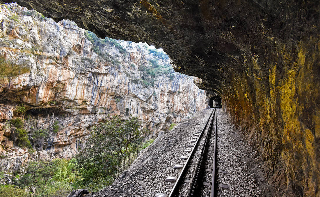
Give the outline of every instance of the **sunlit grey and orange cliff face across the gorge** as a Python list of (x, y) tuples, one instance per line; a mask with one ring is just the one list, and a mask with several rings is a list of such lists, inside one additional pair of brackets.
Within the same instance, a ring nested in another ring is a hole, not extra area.
[[(24, 120), (38, 150), (31, 157), (52, 159), (76, 154), (108, 114), (138, 116), (152, 131), (147, 137), (157, 137), (202, 110), (205, 91), (193, 77), (174, 72), (161, 50), (148, 47), (98, 39), (69, 20), (56, 23), (17, 4), (1, 5), (3, 170), (16, 170), (30, 158), (27, 149), (12, 147), (12, 117)], [(39, 130), (48, 135), (33, 137)]]

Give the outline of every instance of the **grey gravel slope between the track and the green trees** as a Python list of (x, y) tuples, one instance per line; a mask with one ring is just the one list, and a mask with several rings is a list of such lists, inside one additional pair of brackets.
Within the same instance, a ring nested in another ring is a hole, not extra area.
[(194, 134), (202, 130), (211, 111), (212, 109), (204, 109), (190, 119), (182, 120), (169, 133), (158, 137), (142, 150), (131, 167), (111, 186), (87, 196), (153, 197), (155, 193), (170, 193), (174, 183), (164, 180), (167, 176), (179, 176), (180, 170), (174, 169), (173, 166), (185, 163), (186, 160), (179, 157), (188, 156), (189, 153), (185, 153), (184, 150), (191, 144)]

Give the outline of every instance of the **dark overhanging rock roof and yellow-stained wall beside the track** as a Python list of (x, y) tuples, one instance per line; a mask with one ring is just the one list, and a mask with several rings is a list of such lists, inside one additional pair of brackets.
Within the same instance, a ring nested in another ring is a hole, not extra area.
[(162, 47), (176, 71), (221, 96), (270, 183), (320, 195), (318, 1), (15, 2), (100, 37)]

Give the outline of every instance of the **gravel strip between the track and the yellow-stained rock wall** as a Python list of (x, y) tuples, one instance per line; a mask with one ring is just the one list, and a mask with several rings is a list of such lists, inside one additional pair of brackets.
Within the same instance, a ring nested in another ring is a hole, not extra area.
[(259, 186), (256, 184), (255, 174), (250, 171), (242, 157), (245, 157), (244, 151), (236, 147), (237, 142), (232, 135), (235, 133), (235, 128), (227, 120), (227, 115), (221, 109), (218, 110), (218, 134), (217, 147), (219, 160), (224, 160), (227, 163), (218, 163), (218, 169), (228, 171), (228, 174), (219, 174), (217, 177), (218, 183), (230, 186), (230, 190), (218, 188), (218, 196), (263, 196)]

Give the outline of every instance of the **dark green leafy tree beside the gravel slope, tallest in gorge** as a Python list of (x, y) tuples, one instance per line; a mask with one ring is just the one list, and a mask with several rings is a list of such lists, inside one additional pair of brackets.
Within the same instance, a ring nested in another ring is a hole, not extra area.
[(94, 191), (111, 184), (121, 161), (140, 148), (147, 134), (140, 127), (137, 117), (121, 120), (115, 115), (93, 128), (86, 147), (76, 155), (76, 169), (81, 175), (76, 185)]

